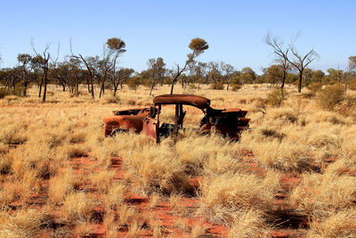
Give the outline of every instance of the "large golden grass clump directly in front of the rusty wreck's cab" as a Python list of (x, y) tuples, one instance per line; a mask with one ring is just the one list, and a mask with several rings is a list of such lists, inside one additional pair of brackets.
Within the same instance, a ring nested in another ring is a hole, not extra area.
[(186, 191), (190, 187), (184, 166), (176, 160), (168, 144), (144, 144), (142, 147), (134, 147), (134, 150), (123, 150), (121, 155), (126, 177), (137, 193), (172, 193)]

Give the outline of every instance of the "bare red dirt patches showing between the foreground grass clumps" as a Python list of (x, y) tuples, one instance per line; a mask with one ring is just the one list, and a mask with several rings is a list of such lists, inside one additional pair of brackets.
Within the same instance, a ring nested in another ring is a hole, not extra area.
[[(265, 169), (260, 167), (255, 163), (254, 155), (247, 152), (243, 157), (243, 163), (246, 163), (247, 168), (250, 168), (257, 176), (263, 176)], [(91, 159), (89, 156), (72, 158), (70, 160), (72, 168), (76, 170), (77, 174), (88, 174), (90, 169), (95, 167), (96, 161)], [(99, 168), (94, 168), (94, 171), (99, 171)], [(122, 169), (122, 160), (118, 157), (111, 158), (111, 164), (109, 165), (109, 170), (115, 170), (116, 175), (114, 180), (120, 181), (124, 179), (125, 171)], [(354, 174), (354, 171), (348, 171), (345, 169), (344, 173)], [(198, 187), (201, 177), (195, 177), (190, 180), (190, 185)], [(276, 201), (273, 202), (275, 205), (276, 213), (280, 212), (278, 223), (275, 228), (271, 231), (271, 237), (305, 237), (306, 229), (308, 228), (307, 217), (297, 217), (291, 216), (293, 210), (290, 210), (290, 206), (287, 204), (287, 193), (300, 181), (297, 174), (285, 173), (284, 176), (280, 178), (280, 183), (282, 190), (276, 194)], [(115, 183), (115, 181), (113, 181)], [(48, 179), (43, 181), (41, 185), (41, 190), (38, 193), (30, 193), (29, 198), (26, 203), (23, 201), (13, 201), (10, 204), (10, 208), (18, 209), (24, 205), (32, 206), (41, 209), (48, 198)], [(95, 198), (100, 197), (93, 185), (85, 184), (78, 188), (79, 190), (85, 191), (89, 196)], [(203, 237), (224, 237), (229, 234), (229, 227), (219, 224), (214, 224), (208, 221), (208, 217), (198, 216), (194, 213), (199, 207), (198, 198), (182, 198), (175, 206), (172, 206), (168, 200), (158, 201), (158, 204), (151, 208), (150, 197), (142, 197), (138, 194), (125, 194), (126, 205), (136, 209), (140, 214), (149, 214), (153, 219), (158, 222), (160, 227), (162, 227), (163, 234), (171, 235), (173, 237), (189, 237), (191, 229), (193, 226), (203, 227), (202, 236)], [(85, 234), (84, 237), (104, 237), (106, 235), (105, 227), (103, 226), (102, 218), (105, 214), (104, 209), (98, 207), (94, 209), (93, 212), (93, 226), (92, 232), (90, 234)], [(44, 237), (53, 236), (53, 230), (58, 227), (64, 226), (61, 222), (56, 222), (58, 217), (61, 217), (60, 209), (54, 209), (51, 211), (51, 216), (53, 216), (53, 224), (49, 225), (49, 229), (44, 232)], [(183, 227), (179, 226), (179, 222), (185, 224)], [(74, 228), (74, 227), (73, 227)], [(122, 237), (128, 233), (128, 228), (120, 228), (118, 231), (118, 236)], [(67, 234), (69, 237), (78, 236), (73, 230), (72, 234)], [(141, 236), (150, 237), (153, 235), (153, 231), (150, 226), (142, 227)]]

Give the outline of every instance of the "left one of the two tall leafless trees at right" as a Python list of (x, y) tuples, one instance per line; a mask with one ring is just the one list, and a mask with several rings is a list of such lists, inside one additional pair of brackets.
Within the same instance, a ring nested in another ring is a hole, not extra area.
[(283, 91), (286, 83), (287, 70), (289, 68), (288, 53), (290, 51), (290, 45), (284, 48), (283, 42), (279, 40), (278, 37), (271, 37), (270, 34), (264, 37), (264, 42), (271, 46), (274, 54), (274, 62), (277, 62), (281, 66), (282, 78), (280, 80), (280, 89)]

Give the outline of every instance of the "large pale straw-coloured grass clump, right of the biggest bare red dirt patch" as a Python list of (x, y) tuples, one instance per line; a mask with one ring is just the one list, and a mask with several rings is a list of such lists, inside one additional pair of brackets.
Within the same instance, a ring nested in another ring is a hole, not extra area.
[(270, 209), (278, 187), (279, 178), (275, 174), (264, 179), (239, 173), (213, 176), (201, 183), (200, 209), (214, 221), (232, 224), (236, 212)]

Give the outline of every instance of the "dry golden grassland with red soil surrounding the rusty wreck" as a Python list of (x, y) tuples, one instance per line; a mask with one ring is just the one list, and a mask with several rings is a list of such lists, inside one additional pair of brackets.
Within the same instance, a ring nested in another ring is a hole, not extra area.
[(250, 129), (239, 142), (197, 135), (203, 113), (188, 108), (178, 138), (104, 137), (103, 116), (150, 105), (145, 87), (91, 99), (50, 86), (47, 103), (36, 88), (1, 99), (0, 237), (356, 236), (352, 107), (323, 110), (293, 86), (279, 107), (265, 85), (175, 90), (247, 110)]

